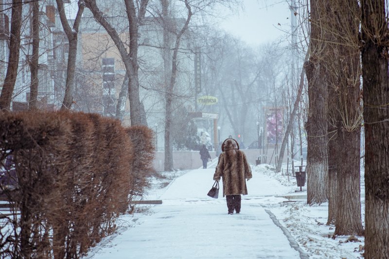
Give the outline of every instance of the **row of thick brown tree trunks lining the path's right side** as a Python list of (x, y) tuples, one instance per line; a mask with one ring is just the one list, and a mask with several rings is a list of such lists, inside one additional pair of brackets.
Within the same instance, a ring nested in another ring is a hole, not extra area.
[(307, 202), (328, 198), (328, 224), (335, 223), (335, 234), (365, 234), (365, 258), (388, 258), (388, 10), (384, 0), (311, 0), (309, 10)]

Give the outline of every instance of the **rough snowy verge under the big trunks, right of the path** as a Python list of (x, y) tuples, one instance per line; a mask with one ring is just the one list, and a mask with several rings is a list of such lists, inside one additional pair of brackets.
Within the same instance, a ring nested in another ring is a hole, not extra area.
[[(291, 186), (290, 195), (303, 195), (301, 200), (295, 202), (267, 203), (264, 206), (275, 214), (280, 223), (285, 226), (293, 238), (299, 243), (309, 258), (363, 258), (360, 251), (364, 245), (364, 237), (337, 236), (334, 237), (335, 225), (326, 225), (328, 217), (328, 203), (320, 206), (309, 206), (306, 204), (306, 183), (302, 192), (297, 187), (296, 179), (282, 176), (281, 173), (274, 173), (269, 166), (259, 165), (251, 167), (254, 172), (264, 174), (270, 178), (277, 179), (283, 186)], [(253, 176), (254, 177), (254, 176)], [(361, 171), (361, 196), (364, 197), (364, 171)], [(361, 200), (362, 205), (362, 224), (365, 220), (365, 202)], [(335, 239), (334, 239), (335, 238)], [(348, 240), (353, 241), (348, 241)], [(355, 242), (358, 240), (358, 242)]]

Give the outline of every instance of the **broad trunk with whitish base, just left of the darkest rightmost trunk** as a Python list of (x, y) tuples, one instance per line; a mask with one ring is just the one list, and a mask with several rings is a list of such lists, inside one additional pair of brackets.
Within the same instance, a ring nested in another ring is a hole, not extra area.
[[(339, 49), (336, 60), (336, 126), (337, 126), (337, 187), (336, 187), (336, 235), (363, 235), (360, 195), (360, 124), (361, 107), (359, 49), (353, 45), (341, 45), (342, 38), (358, 40), (359, 22), (352, 14), (358, 12), (356, 0), (335, 1), (332, 5), (336, 28), (334, 49)], [(336, 10), (337, 9), (337, 10)], [(348, 33), (345, 33), (348, 32)]]

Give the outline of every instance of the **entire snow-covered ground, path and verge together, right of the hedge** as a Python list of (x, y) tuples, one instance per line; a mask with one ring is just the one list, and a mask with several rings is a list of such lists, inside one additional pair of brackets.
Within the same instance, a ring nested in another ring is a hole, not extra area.
[(161, 199), (162, 205), (140, 206), (139, 212), (122, 216), (117, 232), (85, 258), (363, 258), (358, 251), (363, 237), (356, 237), (359, 242), (347, 242), (348, 236), (333, 239), (335, 226), (325, 225), (328, 204), (308, 206), (305, 197), (280, 197), (303, 196), (306, 189), (295, 192), (300, 190), (295, 178), (288, 181), (267, 165), (251, 165), (242, 211), (228, 215), (222, 190), (219, 199), (206, 195), (215, 164), (216, 159), (209, 169), (166, 172), (167, 178), (154, 179), (145, 200)]

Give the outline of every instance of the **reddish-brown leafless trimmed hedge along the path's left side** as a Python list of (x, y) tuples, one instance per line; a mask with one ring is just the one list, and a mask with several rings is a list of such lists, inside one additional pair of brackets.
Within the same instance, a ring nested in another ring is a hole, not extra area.
[(97, 114), (0, 112), (0, 158), (13, 156), (18, 182), (0, 186), (13, 211), (1, 258), (79, 258), (112, 234), (153, 172), (152, 138)]

